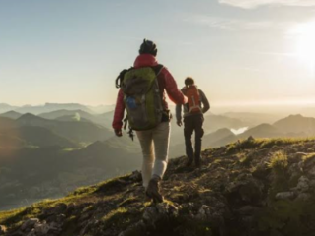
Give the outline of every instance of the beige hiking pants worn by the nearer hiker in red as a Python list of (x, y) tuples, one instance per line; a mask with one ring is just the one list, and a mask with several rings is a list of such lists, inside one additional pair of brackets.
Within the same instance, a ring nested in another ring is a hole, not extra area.
[(153, 175), (163, 178), (168, 163), (170, 123), (162, 122), (158, 127), (136, 131), (143, 154), (142, 178), (143, 186), (148, 186)]

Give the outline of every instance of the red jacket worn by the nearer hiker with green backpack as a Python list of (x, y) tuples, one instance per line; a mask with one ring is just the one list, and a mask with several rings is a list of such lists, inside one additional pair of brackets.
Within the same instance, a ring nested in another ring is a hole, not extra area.
[[(151, 54), (140, 54), (134, 61), (134, 68), (141, 67), (151, 67), (157, 66), (157, 59)], [(178, 89), (177, 84), (169, 71), (164, 67), (158, 75), (158, 85), (161, 91), (161, 96), (163, 98), (164, 108), (168, 109), (168, 104), (166, 101), (165, 90), (169, 98), (177, 105), (183, 105), (187, 103), (187, 98), (184, 94)], [(118, 92), (114, 119), (113, 119), (113, 129), (121, 130), (123, 128), (123, 119), (125, 114), (125, 103), (124, 103), (124, 92), (122, 89)]]

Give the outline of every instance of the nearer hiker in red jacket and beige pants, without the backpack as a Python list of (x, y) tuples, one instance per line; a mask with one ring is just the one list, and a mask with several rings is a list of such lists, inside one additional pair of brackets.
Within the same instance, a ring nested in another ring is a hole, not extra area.
[[(166, 101), (166, 92), (175, 104), (185, 104), (186, 97), (178, 89), (171, 73), (158, 64), (156, 59), (158, 49), (152, 41), (144, 40), (139, 49), (139, 56), (133, 63), (133, 69), (152, 68), (158, 69), (156, 75), (161, 106), (164, 112), (157, 127), (149, 130), (136, 131), (143, 153), (142, 178), (146, 195), (155, 202), (162, 202), (163, 196), (159, 190), (160, 182), (168, 164), (170, 117)], [(125, 78), (125, 77), (124, 77)], [(126, 109), (123, 89), (120, 89), (115, 107), (113, 129), (117, 136), (122, 136), (123, 119)], [(148, 103), (150, 101), (148, 100)], [(155, 107), (157, 110), (158, 107)], [(129, 114), (128, 114), (129, 116)], [(130, 122), (130, 120), (129, 120)]]

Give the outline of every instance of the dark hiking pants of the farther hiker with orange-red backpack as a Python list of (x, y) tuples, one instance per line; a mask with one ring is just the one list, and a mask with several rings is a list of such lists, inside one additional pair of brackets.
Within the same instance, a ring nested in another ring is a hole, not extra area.
[[(184, 135), (185, 135), (185, 144), (186, 144), (186, 154), (189, 160), (195, 160), (195, 163), (198, 163), (200, 160), (200, 152), (201, 152), (201, 140), (204, 134), (202, 129), (203, 125), (203, 114), (196, 114), (187, 116), (184, 118)], [(194, 154), (191, 144), (191, 135), (192, 132), (195, 132), (195, 147)]]

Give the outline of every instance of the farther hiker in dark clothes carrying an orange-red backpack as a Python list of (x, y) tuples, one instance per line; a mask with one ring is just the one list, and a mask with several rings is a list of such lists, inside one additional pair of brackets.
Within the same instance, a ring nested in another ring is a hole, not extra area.
[[(186, 154), (188, 157), (187, 165), (190, 166), (194, 160), (195, 166), (200, 166), (201, 143), (204, 134), (203, 131), (203, 114), (209, 110), (209, 102), (201, 89), (197, 89), (192, 78), (185, 80), (185, 87), (182, 92), (187, 96), (188, 103), (184, 107), (184, 136), (186, 145)], [(177, 125), (182, 126), (182, 106), (176, 106)], [(195, 145), (193, 152), (191, 144), (191, 135), (195, 132)]]

